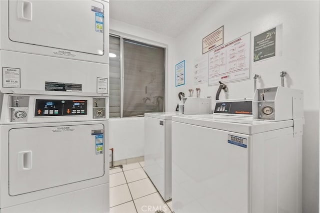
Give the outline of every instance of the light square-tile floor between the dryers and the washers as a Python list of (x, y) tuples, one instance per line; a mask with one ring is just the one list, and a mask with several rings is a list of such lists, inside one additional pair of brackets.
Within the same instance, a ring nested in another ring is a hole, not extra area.
[(143, 167), (139, 162), (109, 170), (110, 213), (172, 213), (171, 201), (163, 201)]

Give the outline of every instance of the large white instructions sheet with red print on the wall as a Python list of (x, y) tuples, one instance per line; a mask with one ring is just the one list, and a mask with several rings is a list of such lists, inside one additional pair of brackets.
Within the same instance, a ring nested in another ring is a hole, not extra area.
[(250, 78), (251, 33), (209, 52), (208, 85)]

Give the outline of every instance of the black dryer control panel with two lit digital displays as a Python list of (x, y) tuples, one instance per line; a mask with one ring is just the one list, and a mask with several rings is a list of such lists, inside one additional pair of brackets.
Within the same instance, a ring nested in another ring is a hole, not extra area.
[(72, 116), (86, 114), (87, 100), (35, 100), (34, 116)]

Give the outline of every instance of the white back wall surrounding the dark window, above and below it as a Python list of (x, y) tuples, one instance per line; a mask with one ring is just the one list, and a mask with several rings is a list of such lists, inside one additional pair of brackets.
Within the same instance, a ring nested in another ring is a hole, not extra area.
[[(150, 30), (110, 19), (110, 33), (166, 48), (166, 84), (174, 84), (168, 69), (174, 63), (174, 39)], [(170, 72), (171, 73), (171, 72)], [(165, 108), (168, 107), (173, 88), (165, 90)], [(172, 101), (171, 101), (172, 102)], [(174, 108), (175, 109), (175, 108)], [(173, 109), (173, 110), (174, 110)], [(167, 110), (172, 111), (172, 110)], [(111, 118), (109, 120), (109, 147), (114, 148), (114, 161), (144, 155), (144, 118)]]

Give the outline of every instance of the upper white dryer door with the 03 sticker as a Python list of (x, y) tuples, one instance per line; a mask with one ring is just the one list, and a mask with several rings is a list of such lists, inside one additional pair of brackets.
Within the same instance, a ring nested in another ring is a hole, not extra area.
[(107, 11), (94, 0), (9, 0), (9, 39), (103, 55)]

